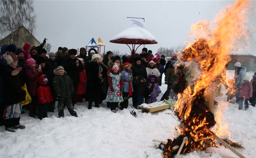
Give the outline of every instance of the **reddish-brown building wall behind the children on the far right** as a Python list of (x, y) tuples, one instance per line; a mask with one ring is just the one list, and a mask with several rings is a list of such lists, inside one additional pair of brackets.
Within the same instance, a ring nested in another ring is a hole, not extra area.
[(248, 71), (256, 72), (256, 56), (252, 55), (231, 55), (231, 61), (228, 63), (228, 70), (234, 70), (234, 64), (241, 63), (241, 67), (246, 67)]

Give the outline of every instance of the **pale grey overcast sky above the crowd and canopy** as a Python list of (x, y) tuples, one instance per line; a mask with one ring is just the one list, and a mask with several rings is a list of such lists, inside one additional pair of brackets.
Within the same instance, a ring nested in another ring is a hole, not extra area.
[[(110, 1), (110, 0), (35, 0), (37, 15), (35, 37), (42, 42), (48, 38), (51, 51), (58, 47), (85, 47), (92, 38), (100, 37), (106, 45), (105, 52), (119, 50), (121, 54), (130, 51), (125, 44), (110, 43), (115, 35), (132, 27), (127, 17), (145, 18), (146, 30), (158, 44), (145, 45), (156, 53), (160, 47), (170, 48), (191, 41), (188, 36), (192, 24), (199, 20), (213, 22), (215, 15), (235, 1)], [(252, 1), (256, 6), (256, 1)], [(249, 15), (249, 27), (256, 28), (256, 14)], [(252, 32), (247, 51), (256, 56), (256, 31)], [(140, 46), (137, 53), (141, 53)], [(103, 47), (101, 47), (103, 50)], [(253, 52), (253, 53), (251, 53)]]

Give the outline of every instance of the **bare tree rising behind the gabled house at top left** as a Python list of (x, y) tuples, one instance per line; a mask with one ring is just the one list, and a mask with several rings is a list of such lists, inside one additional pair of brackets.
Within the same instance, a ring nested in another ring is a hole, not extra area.
[(36, 28), (36, 15), (33, 13), (32, 0), (0, 0), (0, 39), (13, 33), (22, 25), (33, 34)]

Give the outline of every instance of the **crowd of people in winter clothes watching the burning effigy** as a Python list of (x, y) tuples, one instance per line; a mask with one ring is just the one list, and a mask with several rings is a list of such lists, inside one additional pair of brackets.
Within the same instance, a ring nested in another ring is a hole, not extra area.
[[(88, 109), (92, 109), (93, 102), (95, 107), (99, 107), (105, 100), (107, 107), (115, 113), (118, 109), (128, 108), (130, 97), (134, 108), (143, 102), (156, 102), (161, 93), (159, 86), (162, 75), (165, 74), (167, 90), (160, 100), (177, 100), (177, 94), (172, 89), (177, 82), (176, 55), (166, 62), (164, 55), (156, 53), (155, 57), (147, 48), (132, 58), (130, 52), (120, 57), (108, 51), (102, 57), (95, 48), (90, 48), (87, 55), (83, 47), (79, 49), (79, 54), (76, 49), (59, 47), (58, 51), (50, 52), (47, 57), (47, 51), (43, 48), (45, 43), (45, 40), (40, 46), (25, 43), (22, 49), (5, 44), (1, 48), (1, 125), (5, 125), (10, 132), (25, 128), (19, 123), (22, 112), (20, 102), (27, 94), (31, 100), (23, 108), (28, 108), (30, 117), (37, 116), (40, 120), (47, 117), (47, 112), (54, 112), (55, 102), (58, 104), (59, 117), (64, 117), (65, 107), (70, 115), (78, 117), (74, 106), (84, 101), (88, 102)], [(245, 76), (246, 68), (241, 67), (240, 63), (235, 66), (239, 110), (243, 100), (246, 109), (248, 101), (255, 106), (256, 73), (251, 83)], [(27, 92), (21, 89), (25, 84)]]

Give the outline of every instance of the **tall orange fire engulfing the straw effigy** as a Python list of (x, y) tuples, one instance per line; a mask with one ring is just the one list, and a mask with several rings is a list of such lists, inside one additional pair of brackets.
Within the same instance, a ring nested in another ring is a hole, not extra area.
[[(220, 108), (215, 113), (216, 92), (212, 87), (217, 78), (225, 80), (230, 52), (241, 46), (239, 42), (247, 39), (248, 30), (245, 23), (249, 6), (250, 1), (239, 0), (218, 14), (215, 25), (211, 26), (205, 20), (192, 25), (190, 35), (195, 36), (196, 41), (187, 43), (187, 48), (180, 53), (180, 62), (177, 64), (178, 81), (174, 87), (174, 91), (178, 93), (174, 113), (181, 122), (181, 135), (174, 140), (168, 140), (164, 146), (166, 157), (174, 157), (177, 154), (177, 150), (172, 148), (181, 145), (185, 136), (188, 139), (181, 153), (216, 146), (210, 129), (213, 129), (216, 122), (218, 129), (222, 129), (221, 116), (227, 103), (221, 103), (224, 106), (219, 104)], [(229, 87), (233, 86), (230, 84)], [(215, 128), (216, 131), (218, 130)]]

